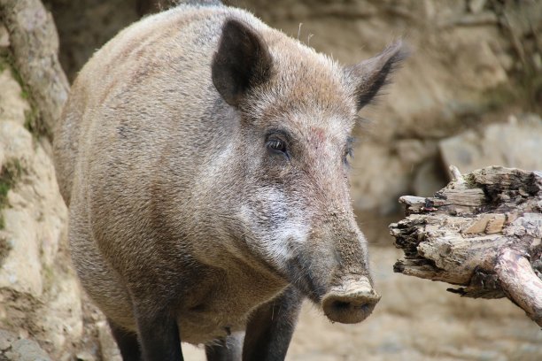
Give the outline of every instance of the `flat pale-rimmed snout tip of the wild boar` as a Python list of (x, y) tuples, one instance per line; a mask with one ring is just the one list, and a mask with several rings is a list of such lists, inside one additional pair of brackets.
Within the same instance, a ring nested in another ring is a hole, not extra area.
[(350, 277), (323, 296), (321, 307), (331, 321), (353, 324), (367, 319), (379, 300), (367, 277)]

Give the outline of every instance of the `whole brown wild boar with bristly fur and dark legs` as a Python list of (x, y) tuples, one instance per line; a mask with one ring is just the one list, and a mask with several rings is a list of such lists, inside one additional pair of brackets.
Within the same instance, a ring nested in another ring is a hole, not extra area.
[(54, 152), (74, 266), (124, 360), (177, 361), (181, 342), (283, 359), (305, 297), (368, 317), (348, 157), (403, 48), (343, 66), (248, 12), (183, 4), (96, 52)]

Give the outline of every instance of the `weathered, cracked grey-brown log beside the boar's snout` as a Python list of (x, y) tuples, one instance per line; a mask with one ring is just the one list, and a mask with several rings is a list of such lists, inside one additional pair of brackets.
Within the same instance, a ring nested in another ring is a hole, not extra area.
[(467, 297), (507, 296), (542, 326), (542, 172), (493, 166), (461, 175), (433, 197), (402, 196), (390, 225), (405, 253), (397, 273), (440, 280)]

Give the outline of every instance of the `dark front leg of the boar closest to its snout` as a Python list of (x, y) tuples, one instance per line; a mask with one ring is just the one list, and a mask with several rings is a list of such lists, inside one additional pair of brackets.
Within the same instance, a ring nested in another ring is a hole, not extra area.
[(303, 296), (290, 286), (281, 296), (259, 307), (246, 327), (244, 361), (279, 361), (286, 357)]

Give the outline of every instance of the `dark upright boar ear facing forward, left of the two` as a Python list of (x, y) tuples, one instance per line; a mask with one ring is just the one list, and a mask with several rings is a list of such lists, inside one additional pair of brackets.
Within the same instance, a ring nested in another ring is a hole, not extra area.
[(226, 103), (238, 106), (250, 88), (268, 80), (272, 62), (266, 42), (252, 27), (228, 19), (214, 53), (214, 87)]

